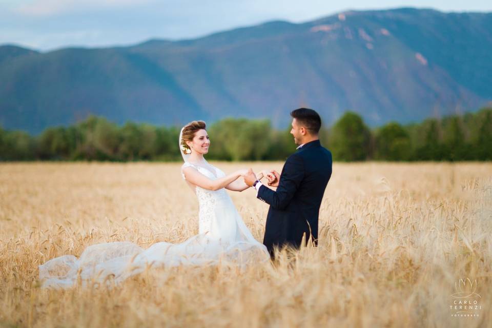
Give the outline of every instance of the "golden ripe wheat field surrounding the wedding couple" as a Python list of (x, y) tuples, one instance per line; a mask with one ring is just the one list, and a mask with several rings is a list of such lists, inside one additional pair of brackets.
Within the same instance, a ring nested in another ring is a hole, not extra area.
[[(0, 326), (492, 327), (492, 163), (335, 163), (317, 248), (245, 271), (151, 269), (112, 288), (40, 288), (39, 264), (91, 244), (195, 235), (198, 203), (179, 168), (1, 164)], [(230, 195), (261, 241), (268, 205), (254, 190)], [(463, 291), (473, 316), (454, 315)]]

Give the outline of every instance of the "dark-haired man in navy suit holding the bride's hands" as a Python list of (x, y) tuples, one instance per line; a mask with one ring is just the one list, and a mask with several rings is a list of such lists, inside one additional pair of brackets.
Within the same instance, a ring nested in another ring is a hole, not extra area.
[(250, 169), (244, 182), (257, 190), (257, 198), (270, 204), (263, 244), (270, 254), (274, 248), (299, 248), (303, 235), (306, 244), (312, 238), (318, 244), (318, 216), (324, 190), (332, 175), (332, 153), (321, 147), (319, 129), (321, 118), (309, 108), (291, 112), (294, 142), (297, 151), (285, 161), (282, 173), (272, 171), (264, 186)]

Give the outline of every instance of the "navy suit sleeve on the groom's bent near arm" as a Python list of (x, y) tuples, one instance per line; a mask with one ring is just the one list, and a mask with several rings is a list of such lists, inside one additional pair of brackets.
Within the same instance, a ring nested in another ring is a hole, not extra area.
[(303, 178), (304, 165), (302, 158), (291, 156), (285, 162), (277, 191), (273, 191), (263, 185), (259, 188), (256, 197), (270, 204), (274, 209), (284, 210), (289, 205), (292, 197), (294, 197)]

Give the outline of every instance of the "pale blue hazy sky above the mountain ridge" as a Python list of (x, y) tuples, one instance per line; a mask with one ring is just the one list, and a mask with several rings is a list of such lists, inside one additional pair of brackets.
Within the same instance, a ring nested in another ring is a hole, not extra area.
[(273, 19), (304, 22), (347, 9), (492, 11), (490, 0), (0, 0), (0, 44), (39, 50), (190, 38)]

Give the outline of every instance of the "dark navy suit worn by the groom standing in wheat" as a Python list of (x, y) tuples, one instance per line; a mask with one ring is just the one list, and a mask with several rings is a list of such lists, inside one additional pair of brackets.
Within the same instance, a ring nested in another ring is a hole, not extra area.
[(263, 239), (270, 254), (275, 246), (299, 248), (304, 234), (317, 244), (319, 208), (331, 175), (332, 153), (315, 140), (285, 161), (277, 191), (258, 189), (257, 197), (270, 204)]

